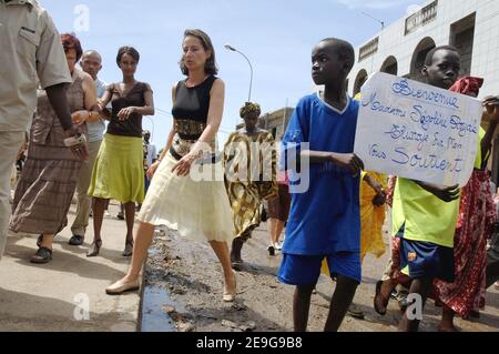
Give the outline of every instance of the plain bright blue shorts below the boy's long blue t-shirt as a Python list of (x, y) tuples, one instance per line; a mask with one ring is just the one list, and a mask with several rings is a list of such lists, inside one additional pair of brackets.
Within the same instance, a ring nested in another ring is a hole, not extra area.
[(360, 254), (356, 252), (337, 252), (329, 255), (284, 253), (277, 279), (287, 285), (317, 284), (324, 259), (327, 260), (332, 277), (343, 275), (360, 284)]

